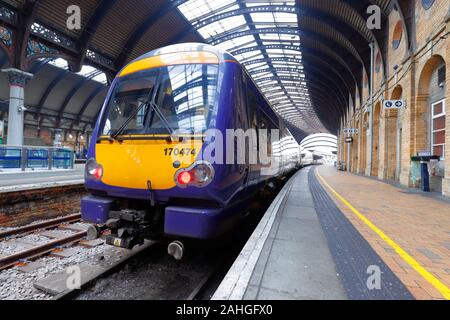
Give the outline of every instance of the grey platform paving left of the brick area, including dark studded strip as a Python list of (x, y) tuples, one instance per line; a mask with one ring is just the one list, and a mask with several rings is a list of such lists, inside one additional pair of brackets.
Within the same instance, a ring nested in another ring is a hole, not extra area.
[(315, 169), (302, 169), (285, 185), (213, 300), (413, 299)]

